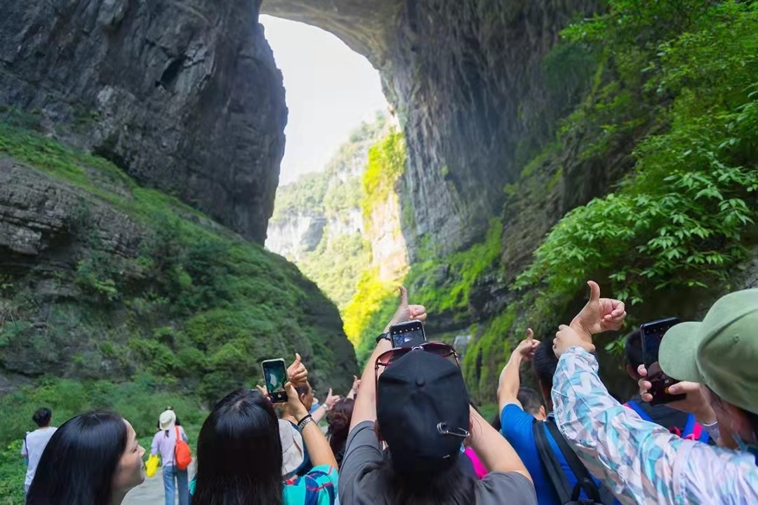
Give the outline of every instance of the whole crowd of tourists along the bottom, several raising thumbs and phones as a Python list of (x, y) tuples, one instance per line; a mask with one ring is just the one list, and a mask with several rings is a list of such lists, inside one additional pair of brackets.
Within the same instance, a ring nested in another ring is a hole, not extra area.
[[(622, 328), (625, 305), (588, 284), (570, 324), (543, 341), (528, 330), (512, 351), (491, 423), (471, 404), (456, 349), (393, 348), (390, 326), (427, 318), (400, 288), (346, 397), (330, 391), (318, 404), (296, 355), (286, 402), (243, 388), (215, 405), (192, 479), (186, 432), (173, 410), (161, 413), (150, 452), (162, 460), (166, 503), (758, 503), (758, 289), (668, 329), (659, 366), (680, 381), (665, 390), (676, 401), (654, 401), (641, 335), (628, 335), (625, 366), (639, 393), (622, 404), (598, 375), (594, 338)], [(540, 391), (521, 384), (526, 362)], [(39, 429), (23, 442), (28, 505), (117, 505), (143, 482), (145, 450), (127, 419), (86, 413), (55, 429), (51, 417), (35, 413)]]

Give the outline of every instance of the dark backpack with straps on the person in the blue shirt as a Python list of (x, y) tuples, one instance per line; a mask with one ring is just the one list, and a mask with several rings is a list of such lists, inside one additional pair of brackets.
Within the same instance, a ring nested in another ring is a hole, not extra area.
[[(550, 435), (553, 436), (553, 440), (558, 444), (558, 448), (563, 457), (565, 457), (568, 467), (574, 472), (577, 480), (574, 489), (568, 485), (568, 479), (566, 479), (556, 454), (553, 453), (553, 448), (550, 447), (550, 441), (547, 435), (545, 435), (542, 425), (546, 426), (548, 431), (550, 431)], [(553, 489), (558, 494), (562, 505), (612, 505), (614, 503), (615, 498), (613, 494), (605, 486), (598, 486), (595, 483), (592, 475), (587, 471), (587, 467), (581, 463), (574, 450), (568, 446), (568, 442), (565, 441), (563, 435), (558, 431), (558, 426), (556, 426), (556, 423), (552, 419), (545, 421), (534, 419), (532, 431), (534, 432), (534, 442), (537, 444), (537, 454), (540, 457), (542, 468), (547, 474), (548, 479), (550, 479), (550, 484), (553, 485)], [(581, 497), (582, 490), (584, 490), (584, 493), (589, 498)]]

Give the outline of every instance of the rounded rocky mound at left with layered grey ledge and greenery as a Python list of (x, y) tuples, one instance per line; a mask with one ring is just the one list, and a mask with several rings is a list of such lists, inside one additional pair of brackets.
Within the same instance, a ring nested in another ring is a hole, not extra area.
[[(355, 351), (337, 308), (292, 264), (157, 192), (142, 200), (112, 166), (74, 163), (86, 185), (0, 155), (0, 393), (44, 375), (152, 373), (212, 402), (257, 376), (260, 360), (295, 351), (315, 387), (349, 387)], [(172, 256), (189, 263), (162, 270)], [(224, 271), (234, 261), (252, 270)], [(179, 270), (184, 285), (171, 287)], [(193, 286), (219, 282), (223, 295), (181, 308)]]

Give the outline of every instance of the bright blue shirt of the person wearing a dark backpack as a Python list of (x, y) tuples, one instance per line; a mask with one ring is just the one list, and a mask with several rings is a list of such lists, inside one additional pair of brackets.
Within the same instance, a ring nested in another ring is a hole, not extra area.
[[(550, 416), (553, 416), (553, 414), (551, 413)], [(558, 494), (553, 489), (550, 478), (545, 474), (540, 462), (540, 454), (537, 452), (537, 443), (534, 441), (534, 432), (532, 431), (534, 416), (528, 412), (524, 412), (516, 404), (508, 404), (506, 407), (503, 407), (503, 412), (500, 413), (500, 422), (502, 422), (500, 432), (509, 441), (509, 444), (512, 445), (516, 453), (518, 453), (518, 457), (521, 458), (524, 466), (529, 471), (529, 475), (531, 475), (534, 489), (537, 491), (537, 503), (539, 505), (560, 505), (561, 501)], [(566, 480), (568, 480), (568, 485), (573, 489), (577, 483), (574, 472), (568, 466), (565, 457), (563, 457), (558, 448), (558, 444), (553, 440), (553, 436), (550, 435), (546, 427), (542, 426), (542, 429), (545, 430), (547, 440), (550, 441), (550, 448), (556, 454), (561, 464)], [(596, 480), (595, 482), (597, 483), (598, 481)], [(587, 497), (584, 491), (581, 492), (581, 497)]]

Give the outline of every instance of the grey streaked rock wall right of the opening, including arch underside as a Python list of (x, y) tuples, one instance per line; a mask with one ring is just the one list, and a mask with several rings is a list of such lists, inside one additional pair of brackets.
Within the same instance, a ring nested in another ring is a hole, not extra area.
[(500, 213), (503, 185), (549, 138), (572, 98), (550, 94), (543, 58), (568, 20), (596, 6), (265, 0), (262, 8), (335, 33), (381, 71), (408, 145), (405, 183), (415, 220), (403, 232), (413, 257), (425, 234), (438, 251), (465, 248)]

